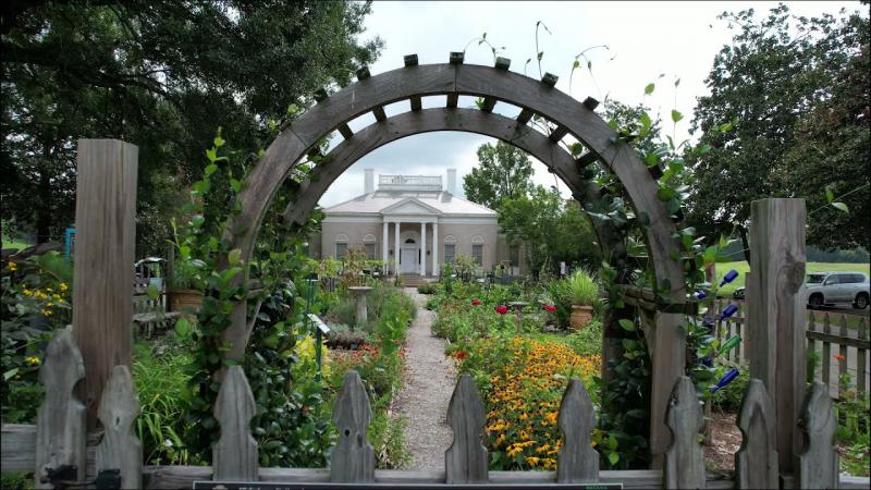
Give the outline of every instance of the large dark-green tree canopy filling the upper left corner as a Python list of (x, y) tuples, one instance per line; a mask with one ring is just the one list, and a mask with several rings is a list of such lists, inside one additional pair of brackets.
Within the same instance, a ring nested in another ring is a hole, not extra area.
[[(223, 126), (257, 151), (323, 86), (349, 83), (381, 41), (369, 3), (277, 0), (4, 2), (0, 168), (4, 223), (40, 242), (72, 224), (75, 143), (139, 146), (139, 253), (167, 236), (176, 195)], [(151, 237), (152, 243), (145, 242)]]

